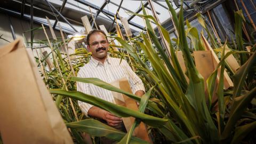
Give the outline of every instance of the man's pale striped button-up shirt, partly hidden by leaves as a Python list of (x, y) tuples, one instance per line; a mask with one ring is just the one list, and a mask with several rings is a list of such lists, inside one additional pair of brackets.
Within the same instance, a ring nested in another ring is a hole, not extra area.
[[(111, 58), (108, 56), (105, 62), (101, 63), (91, 57), (89, 63), (78, 71), (77, 77), (95, 77), (107, 83), (126, 77), (129, 81), (133, 94), (138, 90), (145, 91), (141, 79), (132, 71), (128, 63), (125, 60), (122, 60), (121, 63), (120, 61), (121, 59)], [(111, 91), (102, 89), (101, 87), (93, 84), (77, 82), (77, 91), (94, 95), (95, 97), (115, 103)], [(92, 105), (82, 101), (78, 101), (78, 105), (82, 112), (87, 116), (87, 112)]]

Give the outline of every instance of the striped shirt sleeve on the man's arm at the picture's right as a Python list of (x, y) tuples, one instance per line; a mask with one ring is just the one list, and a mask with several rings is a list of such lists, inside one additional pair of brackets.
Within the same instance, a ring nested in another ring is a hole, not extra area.
[(145, 92), (145, 87), (141, 81), (141, 79), (139, 78), (139, 76), (137, 76), (134, 71), (132, 70), (132, 68), (129, 66), (129, 64), (123, 60), (123, 65), (124, 68), (126, 70), (126, 73), (128, 74), (128, 81), (130, 83), (131, 89), (132, 89), (132, 93), (135, 94), (135, 92), (142, 90)]

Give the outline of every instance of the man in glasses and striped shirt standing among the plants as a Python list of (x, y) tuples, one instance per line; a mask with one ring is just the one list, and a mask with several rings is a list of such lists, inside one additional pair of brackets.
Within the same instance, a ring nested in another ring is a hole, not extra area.
[[(129, 80), (132, 92), (141, 97), (141, 95), (145, 93), (141, 79), (132, 71), (125, 60), (122, 60), (120, 63), (121, 59), (109, 57), (107, 54), (108, 48), (109, 43), (103, 31), (90, 31), (87, 35), (87, 49), (92, 52), (92, 57), (90, 62), (79, 70), (77, 77), (95, 77), (107, 83), (126, 77)], [(115, 103), (111, 91), (102, 89), (93, 84), (77, 82), (77, 91)], [(122, 118), (109, 113), (109, 111), (92, 106), (89, 103), (78, 101), (78, 105), (85, 115), (102, 119), (108, 125), (125, 131)]]

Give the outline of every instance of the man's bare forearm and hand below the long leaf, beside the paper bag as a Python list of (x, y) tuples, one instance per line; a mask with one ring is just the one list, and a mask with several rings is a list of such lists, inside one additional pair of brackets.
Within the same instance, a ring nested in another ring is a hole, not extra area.
[(91, 117), (104, 119), (107, 122), (107, 124), (110, 126), (116, 126), (122, 122), (122, 118), (117, 117), (109, 113), (108, 111), (95, 106), (91, 107), (88, 110), (87, 114)]

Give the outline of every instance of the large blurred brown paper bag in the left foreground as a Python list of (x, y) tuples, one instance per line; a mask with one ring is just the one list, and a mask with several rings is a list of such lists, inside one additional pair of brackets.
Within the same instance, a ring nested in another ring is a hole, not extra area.
[(35, 60), (20, 39), (0, 48), (0, 131), (4, 143), (73, 143)]

